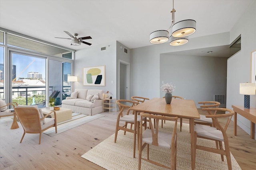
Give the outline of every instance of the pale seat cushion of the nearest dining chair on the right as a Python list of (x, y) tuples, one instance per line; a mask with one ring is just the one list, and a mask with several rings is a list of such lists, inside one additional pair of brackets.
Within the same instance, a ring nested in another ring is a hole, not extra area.
[(194, 131), (198, 136), (207, 137), (210, 139), (224, 141), (222, 132), (217, 130), (216, 127), (210, 127), (208, 125), (194, 125)]

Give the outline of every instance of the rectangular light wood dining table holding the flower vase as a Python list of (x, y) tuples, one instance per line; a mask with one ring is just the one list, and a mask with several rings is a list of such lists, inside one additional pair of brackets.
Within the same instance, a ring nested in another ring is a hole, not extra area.
[[(178, 116), (179, 118), (189, 119), (190, 125), (192, 125), (190, 126), (191, 161), (195, 159), (193, 156), (194, 153), (196, 152), (194, 146), (194, 119), (199, 119), (200, 115), (198, 113), (194, 100), (172, 99), (171, 104), (166, 104), (164, 98), (153, 98), (134, 107), (131, 107), (130, 109), (134, 110), (135, 122), (137, 121), (137, 113), (140, 112), (164, 116)], [(134, 128), (136, 131), (136, 123), (134, 123)], [(136, 133), (134, 133), (134, 138), (136, 139)], [(135, 149), (136, 140), (134, 140), (134, 153)], [(194, 168), (195, 167), (192, 167), (191, 164), (191, 169), (194, 170)]]

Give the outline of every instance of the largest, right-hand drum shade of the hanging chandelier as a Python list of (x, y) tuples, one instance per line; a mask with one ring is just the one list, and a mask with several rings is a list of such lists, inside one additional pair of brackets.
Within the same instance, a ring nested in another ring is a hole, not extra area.
[(186, 37), (196, 32), (196, 21), (195, 20), (183, 20), (174, 23), (172, 25), (172, 36), (173, 37)]

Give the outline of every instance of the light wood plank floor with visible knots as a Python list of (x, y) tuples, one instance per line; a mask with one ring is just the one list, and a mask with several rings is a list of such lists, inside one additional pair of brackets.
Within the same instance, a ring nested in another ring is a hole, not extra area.
[[(42, 134), (41, 145), (38, 145), (38, 134), (26, 134), (20, 143), (23, 134), (20, 123), (20, 128), (11, 130), (12, 119), (1, 118), (0, 170), (104, 170), (81, 157), (115, 131), (117, 113), (109, 114), (107, 111), (102, 114), (105, 117), (53, 137)], [(10, 121), (3, 121), (4, 119)], [(188, 120), (183, 119), (183, 122), (188, 123)], [(227, 133), (231, 153), (242, 170), (255, 170), (256, 141), (240, 127), (238, 136), (235, 137), (233, 122)]]

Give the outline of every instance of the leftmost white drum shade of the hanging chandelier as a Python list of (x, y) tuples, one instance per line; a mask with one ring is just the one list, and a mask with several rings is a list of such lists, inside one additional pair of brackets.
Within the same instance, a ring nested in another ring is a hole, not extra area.
[(149, 39), (152, 44), (162, 44), (169, 40), (169, 32), (166, 30), (154, 31), (150, 34)]

